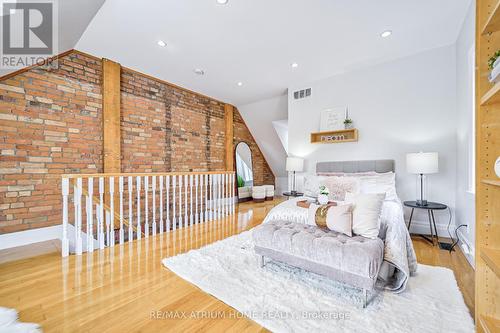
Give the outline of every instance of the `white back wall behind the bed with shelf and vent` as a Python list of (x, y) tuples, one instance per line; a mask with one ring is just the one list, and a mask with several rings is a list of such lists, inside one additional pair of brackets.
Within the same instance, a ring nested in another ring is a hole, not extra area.
[[(437, 151), (440, 172), (429, 175), (428, 199), (448, 204), (454, 211), (455, 72), (455, 47), (451, 45), (290, 87), (289, 153), (304, 157), (310, 173), (318, 161), (394, 159), (398, 194), (402, 200), (414, 200), (416, 180), (406, 172), (406, 153)], [(305, 87), (312, 88), (312, 96), (294, 101), (291, 92)], [(345, 105), (349, 106), (350, 116), (359, 129), (359, 141), (311, 144), (309, 135), (319, 130), (321, 110)], [(426, 218), (423, 212), (416, 216), (416, 220), (425, 222), (420, 228), (427, 225)], [(447, 214), (437, 214), (436, 218), (443, 234)]]

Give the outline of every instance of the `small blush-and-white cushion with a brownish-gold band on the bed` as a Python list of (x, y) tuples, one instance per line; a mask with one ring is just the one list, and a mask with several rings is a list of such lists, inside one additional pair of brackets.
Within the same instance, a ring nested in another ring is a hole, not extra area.
[[(309, 206), (307, 224), (318, 225), (318, 208), (322, 206), (311, 204)], [(326, 227), (332, 231), (352, 236), (352, 204), (328, 206), (326, 212)]]

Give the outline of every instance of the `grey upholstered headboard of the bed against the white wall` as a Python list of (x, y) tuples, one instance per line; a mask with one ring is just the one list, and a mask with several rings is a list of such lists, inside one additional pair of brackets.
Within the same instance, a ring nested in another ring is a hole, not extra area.
[(320, 172), (389, 172), (394, 171), (394, 160), (318, 162), (316, 173)]

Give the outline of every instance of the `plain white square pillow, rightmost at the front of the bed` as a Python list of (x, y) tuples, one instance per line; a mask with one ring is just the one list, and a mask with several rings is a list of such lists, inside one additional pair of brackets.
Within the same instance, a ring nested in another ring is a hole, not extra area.
[(385, 193), (346, 194), (346, 201), (353, 204), (352, 232), (366, 238), (377, 238), (380, 229), (380, 213)]

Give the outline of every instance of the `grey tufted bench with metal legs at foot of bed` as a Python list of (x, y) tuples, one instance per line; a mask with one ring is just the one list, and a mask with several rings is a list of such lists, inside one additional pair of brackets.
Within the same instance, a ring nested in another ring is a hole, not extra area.
[(348, 237), (316, 226), (273, 221), (253, 230), (255, 252), (261, 256), (299, 267), (336, 281), (373, 290), (382, 265), (384, 243), (380, 238)]

